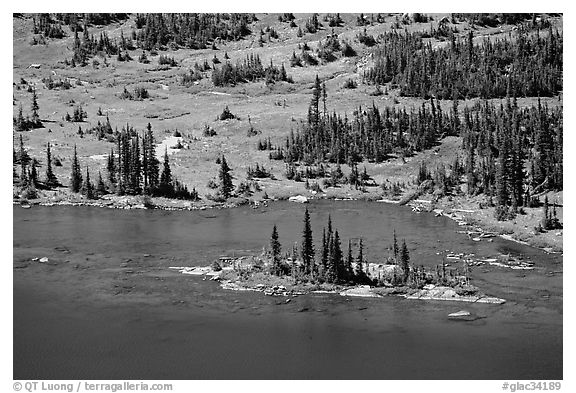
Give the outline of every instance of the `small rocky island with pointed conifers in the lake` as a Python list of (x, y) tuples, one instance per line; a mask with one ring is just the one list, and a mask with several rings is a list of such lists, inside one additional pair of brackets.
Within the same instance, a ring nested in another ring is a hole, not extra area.
[[(450, 300), (470, 303), (502, 304), (504, 299), (487, 296), (470, 283), (470, 264), (449, 267), (445, 261), (435, 269), (410, 261), (406, 242), (398, 245), (394, 232), (393, 256), (382, 263), (368, 262), (362, 239), (356, 256), (348, 240), (344, 256), (338, 230), (328, 217), (322, 231), (320, 252), (316, 253), (308, 208), (304, 213), (302, 243), (282, 252), (278, 229), (274, 225), (270, 244), (260, 255), (221, 257), (211, 266), (171, 267), (183, 274), (208, 276), (223, 289), (259, 291), (270, 296), (298, 296), (310, 293), (335, 293), (342, 296), (403, 296), (406, 299)], [(290, 300), (287, 299), (287, 302)]]

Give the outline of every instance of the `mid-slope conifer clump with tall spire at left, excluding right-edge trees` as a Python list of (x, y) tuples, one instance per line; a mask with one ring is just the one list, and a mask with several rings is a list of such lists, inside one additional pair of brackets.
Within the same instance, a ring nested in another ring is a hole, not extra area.
[(444, 113), (435, 100), (409, 112), (394, 107), (380, 111), (375, 105), (360, 107), (349, 119), (327, 113), (326, 97), (326, 89), (316, 77), (307, 124), (296, 133), (291, 132), (285, 146), (279, 147), (271, 158), (306, 165), (383, 162), (393, 153), (409, 155), (428, 149), (442, 135), (458, 135), (454, 126), (458, 112)]

